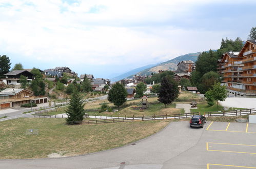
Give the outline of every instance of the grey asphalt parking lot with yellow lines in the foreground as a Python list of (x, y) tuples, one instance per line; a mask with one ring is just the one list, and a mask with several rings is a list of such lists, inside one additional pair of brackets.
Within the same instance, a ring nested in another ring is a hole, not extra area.
[(256, 124), (171, 122), (144, 140), (88, 155), (0, 160), (0, 168), (256, 168)]

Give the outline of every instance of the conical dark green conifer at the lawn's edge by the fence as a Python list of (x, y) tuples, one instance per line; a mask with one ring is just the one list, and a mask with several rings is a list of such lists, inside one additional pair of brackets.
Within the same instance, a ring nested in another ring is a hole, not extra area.
[(82, 96), (75, 90), (65, 111), (68, 115), (66, 118), (67, 123), (72, 124), (73, 121), (82, 121), (85, 115), (84, 107), (85, 103)]

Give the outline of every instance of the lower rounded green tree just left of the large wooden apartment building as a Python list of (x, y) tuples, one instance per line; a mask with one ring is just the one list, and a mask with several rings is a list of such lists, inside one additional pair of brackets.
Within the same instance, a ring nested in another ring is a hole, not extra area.
[(214, 85), (215, 82), (220, 81), (220, 75), (216, 72), (210, 71), (208, 73), (205, 73), (203, 77), (201, 78), (201, 83), (198, 86), (199, 91), (201, 93), (207, 92), (212, 86)]

